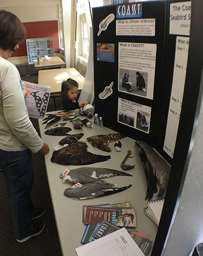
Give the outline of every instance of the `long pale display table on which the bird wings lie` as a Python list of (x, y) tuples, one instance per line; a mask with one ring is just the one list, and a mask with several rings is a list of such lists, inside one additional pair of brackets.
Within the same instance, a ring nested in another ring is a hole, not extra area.
[[(75, 110), (74, 112), (78, 113), (78, 110)], [(54, 114), (57, 112), (51, 113)], [(80, 118), (83, 120), (86, 117), (81, 116)], [(93, 123), (92, 119), (89, 120)], [(63, 121), (60, 120), (54, 123), (53, 125), (50, 124), (47, 127), (47, 129), (50, 129), (55, 124), (61, 122)], [(87, 137), (93, 135), (115, 133), (114, 131), (108, 129), (107, 127), (100, 127), (98, 125), (94, 125), (93, 129), (84, 126), (85, 131), (82, 129), (75, 130), (73, 129), (73, 125), (70, 121), (64, 122), (66, 123), (65, 126), (70, 127), (72, 129), (72, 131), (70, 131), (69, 134), (84, 133), (84, 136), (81, 139), (86, 139)], [(42, 125), (42, 120), (39, 120), (39, 127), (41, 138), (50, 147), (50, 152), (45, 156), (45, 165), (50, 195), (52, 198), (55, 219), (58, 228), (59, 239), (61, 243), (62, 253), (64, 256), (77, 255), (77, 253), (75, 252), (75, 248), (82, 245), (80, 242), (86, 227), (86, 225), (82, 223), (83, 205), (97, 205), (130, 201), (132, 207), (135, 207), (136, 209), (137, 227), (133, 229), (139, 232), (146, 233), (149, 240), (155, 241), (158, 227), (152, 220), (150, 220), (144, 214), (143, 209), (147, 206), (147, 201), (145, 201), (147, 184), (142, 163), (137, 153), (135, 141), (133, 139), (126, 137), (120, 140), (122, 144), (121, 152), (117, 152), (115, 150), (115, 142), (110, 143), (110, 147), (112, 149), (112, 152), (110, 153), (98, 150), (98, 148), (92, 147), (92, 145), (87, 142), (89, 152), (99, 155), (111, 155), (111, 159), (109, 159), (108, 161), (83, 166), (59, 165), (56, 163), (52, 163), (50, 161), (50, 158), (52, 157), (52, 153), (54, 152), (54, 146), (59, 146), (60, 148), (62, 147), (61, 145), (58, 144), (58, 142), (65, 136), (45, 135), (44, 131), (46, 131), (47, 129), (44, 129), (45, 124)], [(136, 164), (133, 169), (127, 171), (128, 173), (132, 174), (133, 177), (111, 177), (107, 178), (106, 181), (110, 183), (116, 183), (118, 187), (132, 184), (131, 188), (113, 195), (81, 201), (73, 200), (64, 196), (64, 190), (68, 187), (71, 187), (71, 184), (63, 183), (63, 180), (59, 177), (60, 174), (65, 170), (65, 168), (74, 169), (78, 167), (90, 166), (112, 168), (123, 171), (120, 167), (120, 164), (126, 156), (128, 150), (131, 150), (132, 154), (135, 155), (133, 158), (128, 158), (125, 162), (126, 164), (131, 165)], [(150, 252), (148, 255), (150, 255)]]

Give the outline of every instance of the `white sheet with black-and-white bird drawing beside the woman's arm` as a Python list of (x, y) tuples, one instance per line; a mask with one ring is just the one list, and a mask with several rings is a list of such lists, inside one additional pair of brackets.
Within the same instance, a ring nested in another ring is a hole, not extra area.
[(51, 88), (32, 82), (22, 82), (28, 90), (28, 96), (26, 96), (25, 101), (29, 117), (43, 119), (46, 114)]

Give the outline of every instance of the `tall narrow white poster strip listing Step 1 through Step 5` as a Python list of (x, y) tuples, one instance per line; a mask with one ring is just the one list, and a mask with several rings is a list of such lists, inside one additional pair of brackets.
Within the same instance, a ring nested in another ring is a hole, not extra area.
[(173, 158), (187, 71), (189, 37), (176, 37), (173, 82), (163, 150)]

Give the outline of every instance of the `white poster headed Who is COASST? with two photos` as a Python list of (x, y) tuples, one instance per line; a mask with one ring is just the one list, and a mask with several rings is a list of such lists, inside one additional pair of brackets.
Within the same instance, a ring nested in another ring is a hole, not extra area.
[(117, 121), (134, 129), (149, 133), (151, 108), (134, 101), (118, 98)]

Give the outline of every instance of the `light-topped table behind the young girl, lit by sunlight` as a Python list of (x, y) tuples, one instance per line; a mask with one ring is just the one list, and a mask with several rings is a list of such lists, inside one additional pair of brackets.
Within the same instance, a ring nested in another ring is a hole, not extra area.
[(55, 97), (59, 97), (61, 95), (61, 84), (63, 80), (67, 80), (68, 78), (72, 78), (79, 84), (79, 92), (83, 88), (83, 83), (85, 78), (75, 69), (75, 68), (67, 68), (67, 69), (48, 69), (48, 70), (40, 70), (38, 74), (38, 84), (42, 86), (50, 86), (52, 91), (50, 97), (54, 97), (54, 106), (56, 110), (56, 100)]

